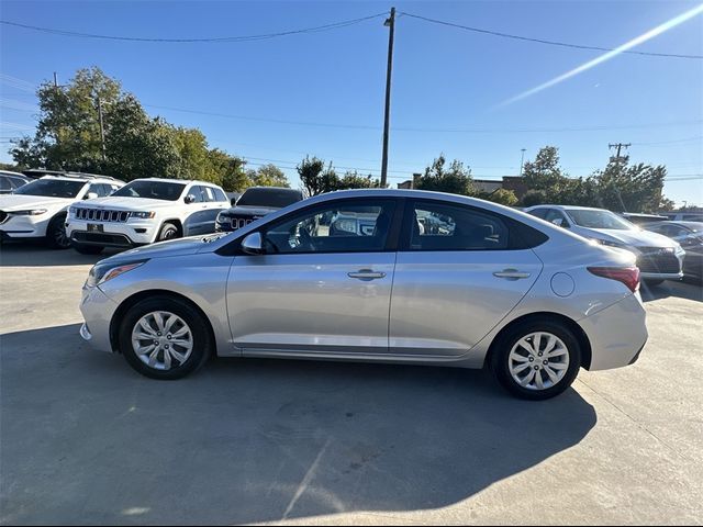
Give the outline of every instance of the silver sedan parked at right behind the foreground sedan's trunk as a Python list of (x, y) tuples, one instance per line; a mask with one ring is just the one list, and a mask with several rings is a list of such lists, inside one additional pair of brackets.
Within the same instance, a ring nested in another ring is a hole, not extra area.
[(537, 205), (525, 212), (598, 244), (634, 253), (641, 278), (650, 285), (683, 277), (684, 251), (679, 244), (660, 234), (643, 231), (611, 211), (571, 205)]

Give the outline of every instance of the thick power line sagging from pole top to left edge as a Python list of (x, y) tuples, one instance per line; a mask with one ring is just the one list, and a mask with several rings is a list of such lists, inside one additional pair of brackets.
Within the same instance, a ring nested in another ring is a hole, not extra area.
[(349, 25), (359, 24), (367, 20), (378, 19), (386, 16), (387, 11), (378, 14), (371, 14), (369, 16), (362, 16), (359, 19), (345, 20), (341, 22), (333, 22), (330, 24), (317, 25), (314, 27), (305, 27), (301, 30), (281, 31), (277, 33), (264, 33), (259, 35), (239, 35), (239, 36), (222, 36), (222, 37), (208, 37), (208, 38), (147, 38), (137, 36), (121, 36), (121, 35), (100, 35), (94, 33), (80, 33), (75, 31), (57, 30), (54, 27), (41, 27), (36, 25), (22, 24), (19, 22), (10, 22), (8, 20), (0, 20), (1, 24), (10, 25), (14, 27), (22, 27), (24, 30), (38, 31), (43, 33), (51, 33), (62, 36), (75, 36), (79, 38), (100, 38), (107, 41), (123, 41), (123, 42), (160, 42), (160, 43), (230, 43), (230, 42), (250, 42), (250, 41), (266, 41), (270, 38), (277, 38), (280, 36), (298, 35), (302, 33), (317, 33), (322, 31), (336, 30), (339, 27), (347, 27)]

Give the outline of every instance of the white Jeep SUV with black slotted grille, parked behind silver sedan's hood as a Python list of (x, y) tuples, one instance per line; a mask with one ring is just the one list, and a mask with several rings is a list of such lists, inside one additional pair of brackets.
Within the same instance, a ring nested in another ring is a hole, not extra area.
[(109, 198), (70, 208), (66, 235), (82, 254), (129, 248), (181, 236), (213, 233), (230, 208), (224, 190), (204, 181), (135, 179)]

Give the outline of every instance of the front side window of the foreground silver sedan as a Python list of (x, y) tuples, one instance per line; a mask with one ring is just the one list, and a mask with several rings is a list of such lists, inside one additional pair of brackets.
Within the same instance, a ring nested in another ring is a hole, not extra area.
[(393, 201), (337, 203), (303, 211), (264, 233), (270, 254), (358, 253), (386, 248)]

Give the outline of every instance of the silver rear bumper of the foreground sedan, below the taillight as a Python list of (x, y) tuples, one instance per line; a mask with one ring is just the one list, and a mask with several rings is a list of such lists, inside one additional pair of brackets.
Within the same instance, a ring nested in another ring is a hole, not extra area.
[(635, 294), (582, 318), (579, 325), (591, 343), (591, 371), (634, 363), (648, 338), (646, 312)]

